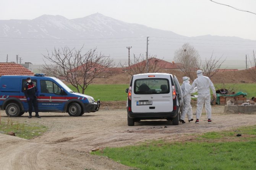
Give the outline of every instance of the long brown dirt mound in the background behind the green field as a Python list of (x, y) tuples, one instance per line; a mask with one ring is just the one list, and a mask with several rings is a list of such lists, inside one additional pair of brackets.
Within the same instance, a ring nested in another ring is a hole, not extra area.
[[(179, 82), (182, 83), (182, 77), (184, 73), (178, 70), (167, 71), (170, 74), (176, 75)], [(131, 75), (126, 73), (113, 74), (108, 78), (97, 78), (94, 79), (95, 84), (129, 84)], [(251, 75), (246, 70), (239, 71), (226, 71), (217, 72), (211, 77), (213, 83), (254, 83), (251, 79)], [(192, 81), (191, 81), (192, 83)]]

